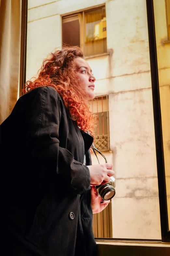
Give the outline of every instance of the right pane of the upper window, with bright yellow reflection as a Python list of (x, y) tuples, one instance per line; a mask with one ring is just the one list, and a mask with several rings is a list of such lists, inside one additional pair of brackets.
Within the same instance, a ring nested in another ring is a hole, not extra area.
[(85, 56), (107, 52), (105, 8), (85, 12), (84, 22)]

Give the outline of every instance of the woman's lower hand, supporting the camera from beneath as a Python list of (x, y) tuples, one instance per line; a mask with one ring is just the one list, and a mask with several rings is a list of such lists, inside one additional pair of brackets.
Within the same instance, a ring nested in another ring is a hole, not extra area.
[(93, 213), (100, 213), (109, 204), (110, 200), (103, 201), (102, 197), (96, 194), (95, 186), (91, 186), (91, 206)]

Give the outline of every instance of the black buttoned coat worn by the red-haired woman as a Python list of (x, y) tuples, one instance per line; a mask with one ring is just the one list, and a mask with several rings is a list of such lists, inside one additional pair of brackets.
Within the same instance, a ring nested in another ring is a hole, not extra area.
[(0, 128), (7, 255), (95, 255), (83, 165), (85, 154), (92, 164), (92, 136), (69, 118), (52, 87), (21, 96)]

